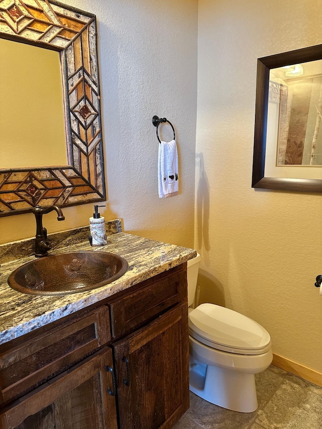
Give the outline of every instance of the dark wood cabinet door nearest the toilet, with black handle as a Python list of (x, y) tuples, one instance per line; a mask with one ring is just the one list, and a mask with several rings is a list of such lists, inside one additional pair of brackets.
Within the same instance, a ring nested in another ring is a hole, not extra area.
[(170, 428), (189, 408), (188, 306), (115, 343), (120, 427)]

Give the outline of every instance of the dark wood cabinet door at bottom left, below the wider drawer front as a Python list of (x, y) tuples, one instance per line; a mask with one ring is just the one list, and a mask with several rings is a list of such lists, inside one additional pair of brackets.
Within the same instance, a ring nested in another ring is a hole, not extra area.
[(117, 429), (110, 366), (112, 351), (105, 347), (3, 409), (0, 427)]

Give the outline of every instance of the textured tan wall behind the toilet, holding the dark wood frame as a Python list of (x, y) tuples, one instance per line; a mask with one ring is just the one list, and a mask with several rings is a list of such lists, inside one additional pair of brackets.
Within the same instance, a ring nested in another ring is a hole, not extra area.
[[(244, 313), (322, 371), (321, 195), (251, 188), (257, 58), (322, 43), (318, 0), (199, 1), (200, 302)], [(200, 159), (203, 158), (203, 164)]]

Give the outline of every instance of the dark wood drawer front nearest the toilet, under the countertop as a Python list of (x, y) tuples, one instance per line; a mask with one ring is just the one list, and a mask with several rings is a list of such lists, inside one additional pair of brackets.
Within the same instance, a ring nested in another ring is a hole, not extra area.
[(156, 276), (154, 281), (143, 282), (139, 290), (110, 301), (113, 338), (133, 332), (186, 296), (187, 274), (183, 269), (168, 276)]

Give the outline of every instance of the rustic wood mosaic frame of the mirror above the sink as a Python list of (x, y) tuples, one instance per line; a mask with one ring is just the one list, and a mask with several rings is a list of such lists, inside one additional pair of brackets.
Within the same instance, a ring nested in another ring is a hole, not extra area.
[[(105, 200), (95, 15), (53, 0), (0, 0), (0, 38), (59, 52), (66, 139), (65, 165), (4, 168), (0, 157), (0, 216), (30, 212), (38, 204), (66, 207)], [(0, 140), (4, 148), (1, 134)], [(32, 151), (30, 136), (16, 157), (23, 163), (24, 153)]]

